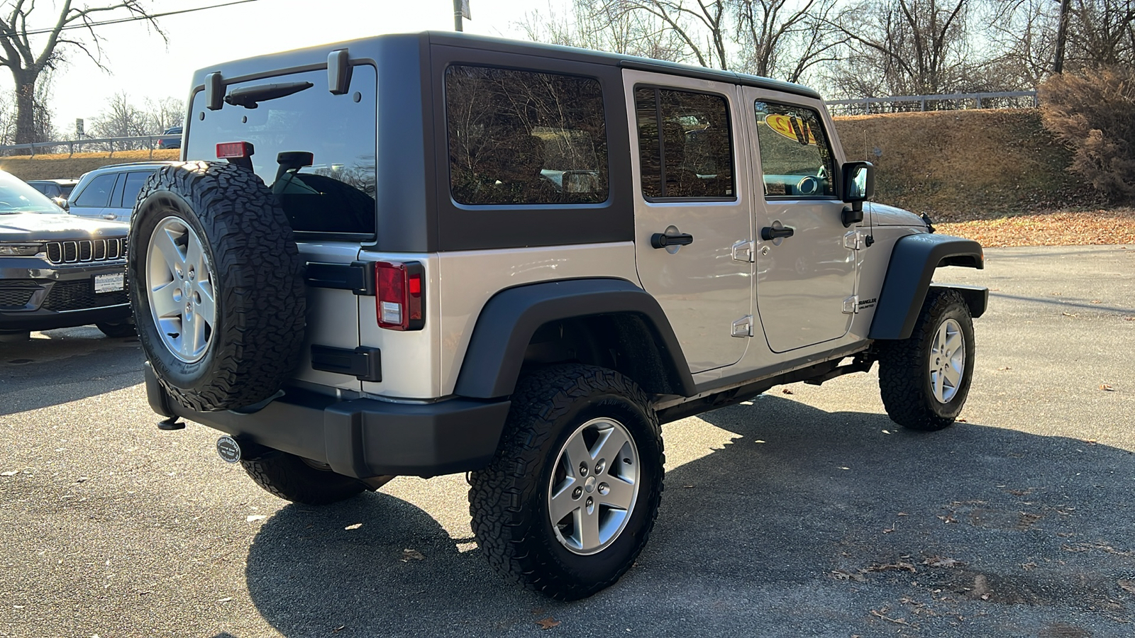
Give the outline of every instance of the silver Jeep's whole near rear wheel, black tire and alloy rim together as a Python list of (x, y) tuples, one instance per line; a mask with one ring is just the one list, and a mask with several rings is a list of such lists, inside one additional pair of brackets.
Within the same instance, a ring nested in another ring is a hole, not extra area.
[(646, 394), (605, 368), (527, 375), (491, 464), (473, 472), (473, 532), (499, 573), (553, 598), (614, 584), (658, 512), (663, 450)]

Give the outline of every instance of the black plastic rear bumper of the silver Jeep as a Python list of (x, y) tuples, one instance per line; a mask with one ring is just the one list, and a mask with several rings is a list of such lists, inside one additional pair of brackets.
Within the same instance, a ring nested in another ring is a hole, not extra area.
[(150, 406), (163, 417), (176, 414), (355, 478), (479, 470), (496, 452), (510, 406), (508, 401), (466, 398), (339, 401), (288, 389), (254, 411), (196, 412), (170, 401), (149, 363), (145, 384)]

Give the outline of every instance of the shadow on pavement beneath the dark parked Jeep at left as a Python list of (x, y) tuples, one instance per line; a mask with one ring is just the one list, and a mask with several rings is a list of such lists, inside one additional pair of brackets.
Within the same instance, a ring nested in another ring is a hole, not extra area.
[(0, 343), (0, 415), (137, 385), (143, 360), (137, 337), (106, 337), (94, 326)]

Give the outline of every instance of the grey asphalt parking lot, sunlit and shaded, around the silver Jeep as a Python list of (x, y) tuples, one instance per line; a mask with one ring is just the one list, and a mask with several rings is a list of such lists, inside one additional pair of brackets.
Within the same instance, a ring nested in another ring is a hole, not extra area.
[(157, 429), (135, 341), (0, 344), (0, 636), (1133, 636), (1135, 246), (986, 254), (940, 271), (992, 291), (965, 422), (872, 372), (671, 423), (650, 544), (569, 604), (489, 571), (464, 477), (292, 505)]

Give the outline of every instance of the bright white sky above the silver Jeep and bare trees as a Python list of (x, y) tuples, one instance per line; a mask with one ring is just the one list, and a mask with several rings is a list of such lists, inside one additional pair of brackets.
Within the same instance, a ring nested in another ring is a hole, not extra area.
[[(153, 12), (220, 5), (228, 0), (150, 0)], [(547, 15), (558, 0), (469, 0), (466, 33), (521, 37), (516, 22), (533, 9)], [(101, 6), (112, 0), (78, 0)], [(40, 2), (28, 28), (51, 26), (57, 14)], [(103, 17), (109, 17), (103, 14)], [(117, 16), (117, 15), (116, 15)], [(56, 128), (74, 136), (75, 119), (99, 116), (109, 99), (125, 92), (143, 107), (145, 99), (184, 100), (194, 70), (215, 62), (301, 47), (424, 30), (453, 30), (452, 0), (255, 0), (159, 19), (168, 42), (143, 22), (95, 27), (103, 39), (103, 72), (72, 48), (68, 62), (51, 82)], [(83, 34), (83, 31), (72, 31)], [(40, 36), (43, 37), (43, 36)], [(86, 36), (89, 40), (89, 35)], [(34, 41), (33, 41), (34, 43)], [(0, 69), (0, 90), (11, 91), (11, 74)]]

